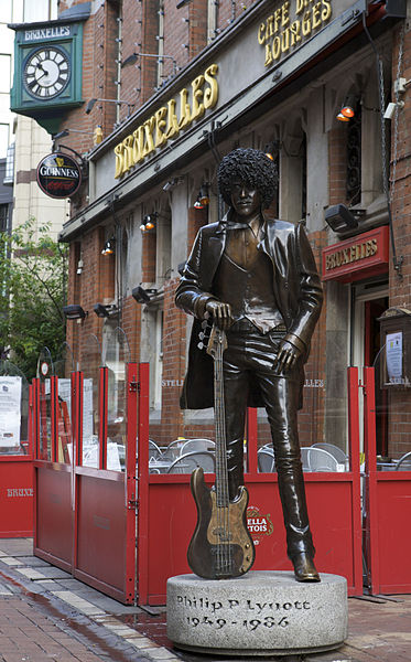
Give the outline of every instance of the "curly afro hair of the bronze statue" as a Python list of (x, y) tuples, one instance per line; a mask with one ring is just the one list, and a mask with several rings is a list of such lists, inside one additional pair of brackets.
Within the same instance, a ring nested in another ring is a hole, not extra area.
[(261, 195), (261, 206), (270, 206), (278, 186), (275, 163), (259, 149), (239, 147), (226, 154), (218, 167), (218, 189), (224, 201), (231, 204), (231, 183), (239, 181), (257, 189)]

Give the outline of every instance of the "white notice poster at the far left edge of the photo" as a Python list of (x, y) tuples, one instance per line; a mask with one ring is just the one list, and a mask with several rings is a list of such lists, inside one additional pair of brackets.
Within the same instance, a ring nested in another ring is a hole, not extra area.
[(0, 376), (0, 452), (20, 446), (21, 377)]

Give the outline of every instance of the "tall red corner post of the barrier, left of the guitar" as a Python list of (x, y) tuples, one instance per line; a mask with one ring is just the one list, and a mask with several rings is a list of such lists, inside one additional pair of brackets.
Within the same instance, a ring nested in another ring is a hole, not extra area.
[(126, 449), (126, 601), (136, 598), (136, 537), (137, 537), (137, 396), (138, 365), (129, 363), (127, 369), (127, 449)]

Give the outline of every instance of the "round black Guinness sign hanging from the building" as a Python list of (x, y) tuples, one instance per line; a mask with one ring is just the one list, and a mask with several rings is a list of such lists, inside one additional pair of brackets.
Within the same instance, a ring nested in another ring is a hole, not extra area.
[(54, 152), (37, 166), (37, 184), (51, 197), (71, 197), (82, 183), (78, 163), (67, 154)]

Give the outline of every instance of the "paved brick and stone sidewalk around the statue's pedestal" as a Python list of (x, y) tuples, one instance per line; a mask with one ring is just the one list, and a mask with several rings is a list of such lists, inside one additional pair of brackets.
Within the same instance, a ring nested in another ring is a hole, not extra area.
[[(339, 650), (271, 660), (411, 662), (411, 596), (351, 598), (348, 610)], [(34, 557), (32, 540), (0, 540), (0, 662), (223, 660), (177, 651), (165, 623), (164, 608), (126, 607)]]

